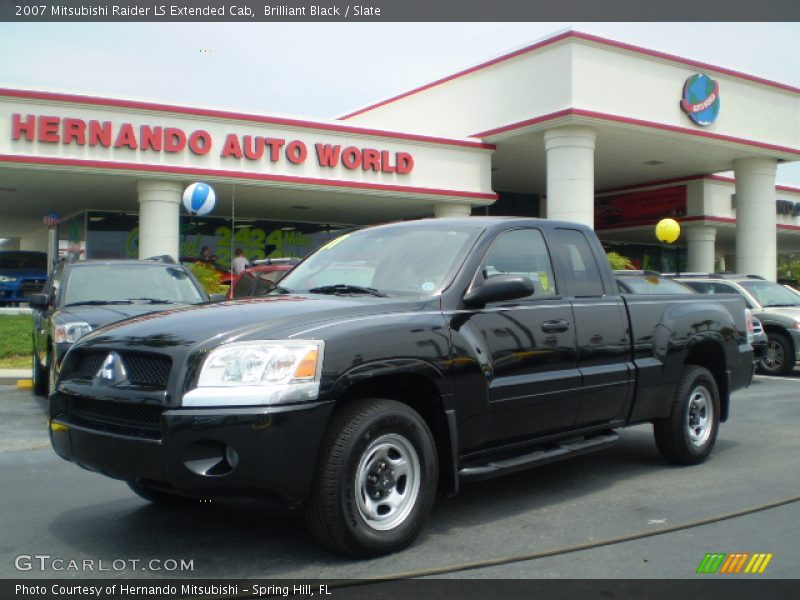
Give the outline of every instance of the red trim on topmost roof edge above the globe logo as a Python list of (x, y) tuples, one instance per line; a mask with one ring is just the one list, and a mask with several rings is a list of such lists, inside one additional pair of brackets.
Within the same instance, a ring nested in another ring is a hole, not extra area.
[(339, 117), (339, 120), (343, 121), (343, 120), (349, 119), (351, 117), (355, 117), (356, 115), (360, 115), (360, 114), (363, 114), (365, 112), (369, 112), (369, 111), (374, 110), (376, 108), (380, 108), (381, 106), (385, 106), (387, 104), (391, 104), (392, 102), (396, 102), (397, 100), (402, 100), (403, 98), (407, 98), (408, 96), (411, 96), (411, 95), (416, 94), (418, 92), (423, 92), (423, 91), (428, 90), (428, 89), (430, 89), (432, 87), (436, 87), (437, 85), (441, 85), (443, 83), (447, 83), (448, 81), (452, 81), (453, 79), (457, 79), (459, 77), (463, 77), (464, 75), (469, 75), (470, 73), (474, 73), (475, 71), (480, 71), (481, 69), (485, 69), (487, 67), (491, 67), (491, 66), (496, 65), (496, 64), (501, 63), (501, 62), (505, 62), (505, 61), (507, 61), (509, 59), (515, 58), (515, 57), (520, 56), (522, 54), (527, 54), (529, 52), (534, 52), (536, 50), (539, 50), (540, 48), (544, 48), (544, 47), (549, 46), (551, 44), (555, 44), (556, 42), (560, 42), (561, 40), (564, 40), (564, 39), (567, 39), (567, 38), (577, 38), (577, 39), (585, 40), (587, 42), (594, 42), (594, 43), (597, 43), (597, 44), (603, 44), (605, 46), (611, 46), (613, 48), (618, 48), (620, 50), (626, 50), (628, 52), (635, 52), (636, 54), (644, 54), (646, 56), (651, 56), (653, 58), (659, 58), (659, 59), (662, 59), (662, 60), (668, 60), (668, 61), (671, 61), (671, 62), (676, 62), (676, 63), (682, 64), (682, 65), (686, 65), (687, 67), (692, 67), (694, 69), (700, 69), (700, 70), (703, 70), (703, 71), (713, 71), (713, 72), (719, 73), (721, 75), (728, 75), (730, 77), (736, 77), (738, 79), (744, 79), (746, 81), (752, 81), (753, 83), (758, 83), (758, 84), (761, 84), (761, 85), (766, 85), (766, 86), (769, 86), (769, 87), (778, 88), (778, 89), (781, 89), (781, 90), (784, 90), (784, 91), (787, 91), (787, 92), (800, 94), (800, 88), (796, 88), (794, 86), (791, 86), (791, 85), (788, 85), (788, 84), (785, 84), (785, 83), (780, 83), (778, 81), (772, 81), (770, 79), (764, 79), (763, 77), (756, 77), (755, 75), (748, 75), (747, 73), (742, 73), (741, 71), (734, 71), (733, 69), (726, 69), (725, 67), (718, 67), (718, 66), (715, 66), (715, 65), (711, 65), (711, 64), (708, 64), (708, 63), (700, 62), (700, 61), (697, 61), (697, 60), (692, 60), (692, 59), (689, 59), (689, 58), (683, 58), (683, 57), (677, 56), (675, 54), (668, 54), (666, 52), (659, 52), (657, 50), (650, 50), (650, 49), (644, 48), (642, 46), (635, 46), (633, 44), (626, 44), (624, 42), (617, 42), (615, 40), (611, 40), (611, 39), (608, 39), (608, 38), (600, 37), (600, 36), (597, 36), (597, 35), (592, 35), (592, 34), (589, 34), (589, 33), (582, 33), (580, 31), (567, 31), (567, 32), (555, 35), (555, 36), (553, 36), (551, 38), (548, 38), (546, 40), (542, 40), (540, 42), (536, 42), (535, 44), (531, 44), (529, 46), (525, 46), (524, 48), (521, 48), (519, 50), (515, 50), (514, 52), (510, 52), (508, 54), (503, 54), (502, 56), (498, 56), (497, 58), (494, 58), (492, 60), (480, 63), (478, 65), (475, 65), (474, 67), (470, 67), (468, 69), (464, 69), (462, 71), (458, 71), (457, 73), (454, 73), (452, 75), (448, 75), (447, 77), (442, 77), (441, 79), (437, 79), (436, 81), (433, 81), (433, 82), (428, 83), (426, 85), (422, 85), (422, 86), (416, 87), (413, 90), (410, 90), (408, 92), (405, 92), (405, 93), (402, 93), (402, 94), (398, 94), (397, 96), (392, 96), (391, 98), (388, 98), (387, 100), (383, 100), (381, 102), (376, 102), (375, 104), (371, 104), (369, 106), (366, 106), (364, 108), (361, 108), (361, 109), (356, 110), (354, 112), (351, 112), (349, 114), (343, 115), (343, 116)]

